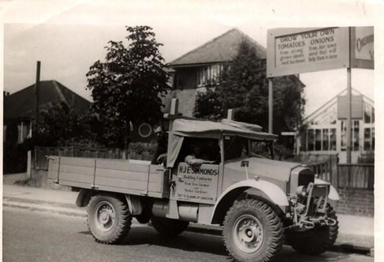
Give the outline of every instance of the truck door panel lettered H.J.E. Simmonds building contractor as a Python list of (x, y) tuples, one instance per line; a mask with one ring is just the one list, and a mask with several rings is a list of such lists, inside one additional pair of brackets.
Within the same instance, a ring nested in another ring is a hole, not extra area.
[(192, 168), (186, 163), (177, 167), (176, 187), (171, 200), (214, 204), (217, 198), (219, 165)]

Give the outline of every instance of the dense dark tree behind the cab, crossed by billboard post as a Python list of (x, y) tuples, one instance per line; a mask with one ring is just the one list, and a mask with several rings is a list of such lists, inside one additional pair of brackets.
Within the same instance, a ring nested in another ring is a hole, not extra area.
[[(197, 95), (196, 117), (221, 119), (233, 108), (235, 120), (268, 126), (268, 86), (266, 63), (250, 40), (243, 39), (237, 56), (224, 64), (218, 83), (213, 89), (206, 83), (207, 92)], [(305, 100), (303, 86), (293, 75), (274, 78), (274, 133), (295, 130), (302, 121)], [(207, 102), (215, 106), (206, 106)]]

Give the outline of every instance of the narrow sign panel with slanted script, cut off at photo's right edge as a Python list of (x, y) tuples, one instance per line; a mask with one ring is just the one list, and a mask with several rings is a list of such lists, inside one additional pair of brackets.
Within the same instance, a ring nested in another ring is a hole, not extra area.
[(351, 43), (351, 67), (374, 69), (374, 27), (352, 27)]

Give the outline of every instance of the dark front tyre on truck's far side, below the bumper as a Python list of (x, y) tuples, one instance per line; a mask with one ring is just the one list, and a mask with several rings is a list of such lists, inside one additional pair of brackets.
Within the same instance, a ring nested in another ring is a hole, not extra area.
[(315, 226), (306, 231), (287, 233), (288, 243), (294, 250), (302, 254), (322, 254), (326, 252), (336, 241), (339, 233), (339, 222), (331, 205), (327, 205), (328, 217), (336, 220), (334, 226)]

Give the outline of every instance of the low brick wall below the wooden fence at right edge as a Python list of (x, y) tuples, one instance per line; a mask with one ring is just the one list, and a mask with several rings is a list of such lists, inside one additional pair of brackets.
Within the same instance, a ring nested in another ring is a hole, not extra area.
[(337, 189), (337, 213), (374, 216), (374, 191), (369, 189)]

